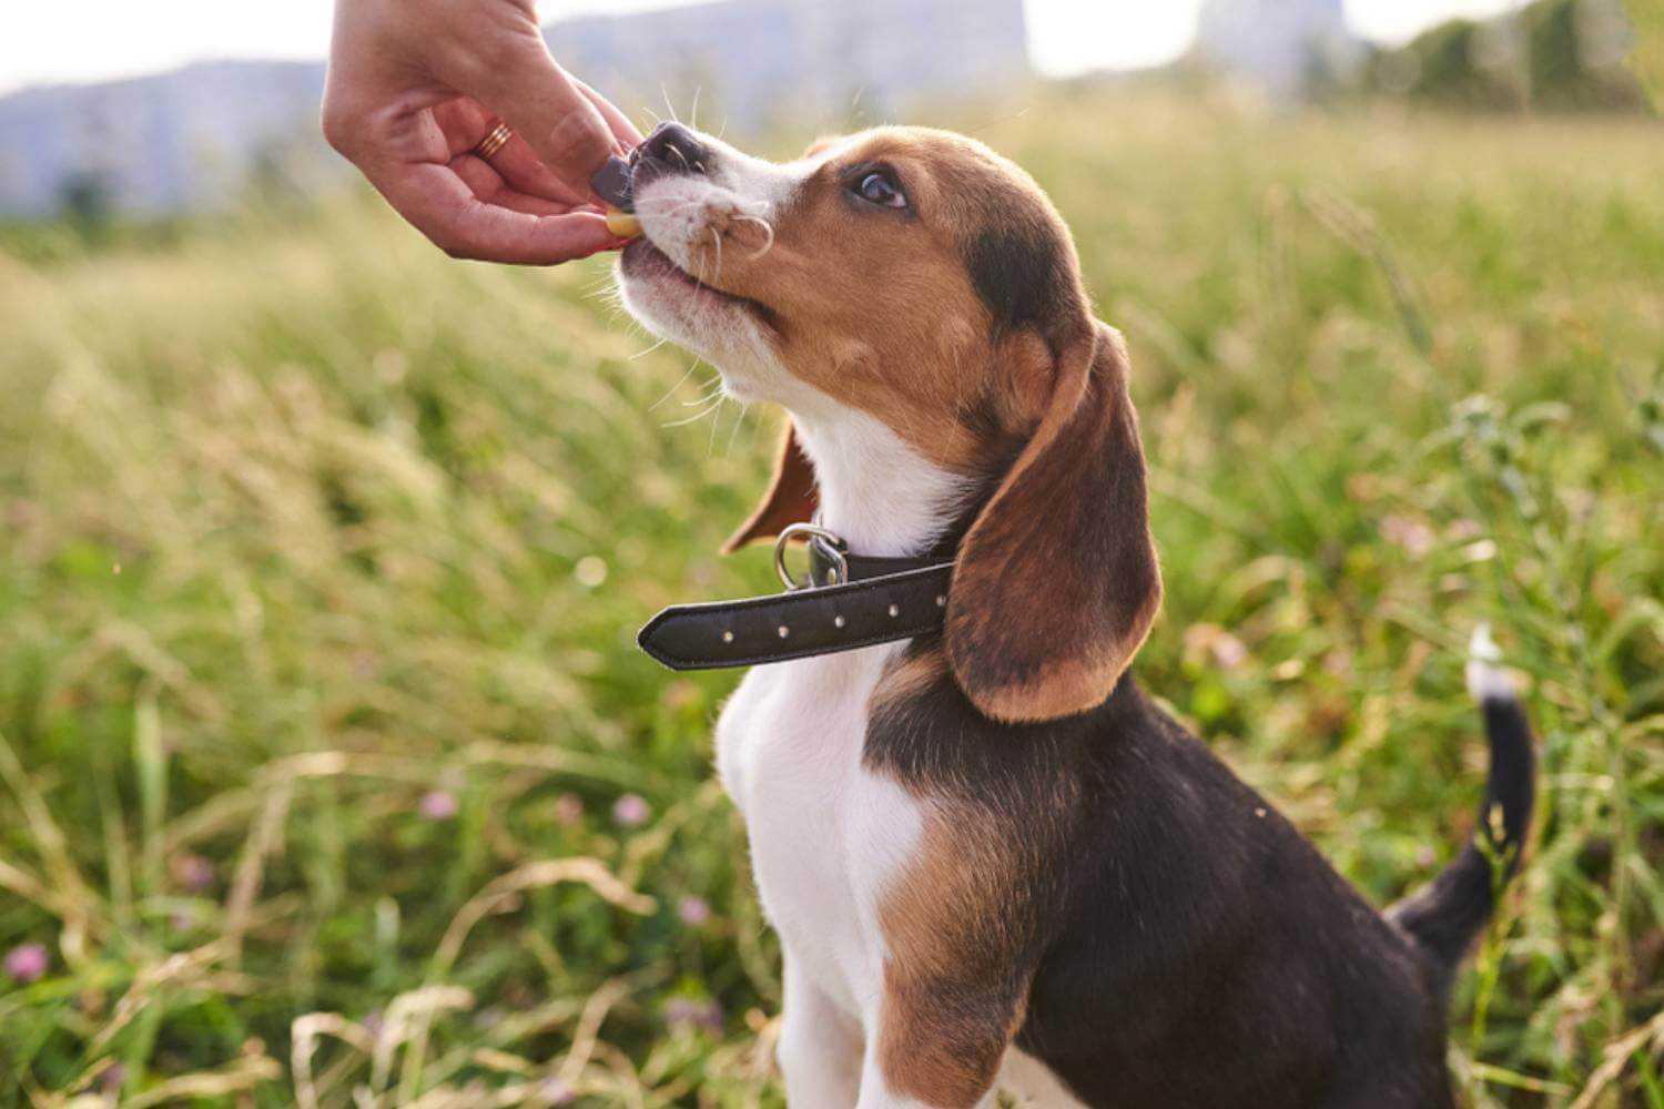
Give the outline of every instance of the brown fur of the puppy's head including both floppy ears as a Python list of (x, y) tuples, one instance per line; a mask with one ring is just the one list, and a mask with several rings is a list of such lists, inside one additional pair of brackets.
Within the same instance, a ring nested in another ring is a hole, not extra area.
[[(724, 288), (764, 303), (794, 376), (938, 466), (982, 474), (1025, 444), (960, 549), (948, 660), (995, 720), (1085, 712), (1161, 597), (1127, 347), (1092, 319), (1062, 218), (1012, 163), (920, 130), (825, 151), (772, 249), (726, 263)], [(905, 211), (852, 206), (849, 178), (874, 165), (900, 178)], [(882, 311), (872, 289), (894, 289)], [(807, 519), (807, 481), (787, 449), (727, 549)]]

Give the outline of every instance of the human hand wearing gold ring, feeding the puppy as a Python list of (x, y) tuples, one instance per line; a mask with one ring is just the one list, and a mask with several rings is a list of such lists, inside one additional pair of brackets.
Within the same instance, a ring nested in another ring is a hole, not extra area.
[[(479, 158), (501, 118), (514, 136)], [(622, 246), (589, 186), (641, 133), (549, 57), (534, 0), (338, 0), (323, 131), (453, 258)]]

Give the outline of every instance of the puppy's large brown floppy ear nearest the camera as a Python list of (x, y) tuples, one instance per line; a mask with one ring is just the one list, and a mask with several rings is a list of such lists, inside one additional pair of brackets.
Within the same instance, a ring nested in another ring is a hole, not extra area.
[(1095, 324), (1052, 371), (1033, 437), (960, 544), (947, 612), (960, 688), (1003, 722), (1100, 705), (1161, 602), (1127, 346)]

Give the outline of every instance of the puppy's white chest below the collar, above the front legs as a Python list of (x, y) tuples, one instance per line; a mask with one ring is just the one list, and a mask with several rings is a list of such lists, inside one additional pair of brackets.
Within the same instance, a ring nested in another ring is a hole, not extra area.
[(879, 900), (924, 823), (915, 798), (860, 765), (894, 650), (759, 667), (717, 723), (717, 770), (745, 818), (764, 911), (789, 958), (857, 1018), (882, 993)]

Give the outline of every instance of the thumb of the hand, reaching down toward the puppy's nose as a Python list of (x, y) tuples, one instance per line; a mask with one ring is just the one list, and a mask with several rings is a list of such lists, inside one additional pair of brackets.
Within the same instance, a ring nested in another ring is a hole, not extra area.
[(594, 195), (589, 178), (617, 150), (606, 118), (554, 63), (541, 35), (499, 60), (474, 81), (483, 88), (461, 91), (496, 111), (574, 196)]

